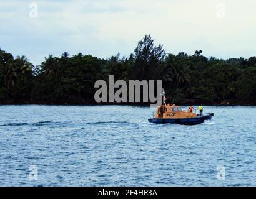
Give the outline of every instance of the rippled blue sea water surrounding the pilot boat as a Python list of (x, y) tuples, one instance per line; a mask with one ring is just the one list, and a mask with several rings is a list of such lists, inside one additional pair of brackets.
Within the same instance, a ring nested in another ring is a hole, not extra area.
[(255, 107), (205, 106), (197, 126), (137, 106), (0, 110), (1, 186), (256, 185)]

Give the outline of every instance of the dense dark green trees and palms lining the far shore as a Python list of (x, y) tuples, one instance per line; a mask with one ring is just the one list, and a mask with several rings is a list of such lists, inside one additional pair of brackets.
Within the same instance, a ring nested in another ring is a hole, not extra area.
[[(25, 56), (16, 58), (0, 49), (0, 104), (96, 105), (150, 103), (96, 103), (97, 80), (162, 80), (167, 103), (180, 105), (256, 105), (256, 57), (204, 57), (166, 53), (150, 35), (134, 53), (107, 59), (82, 55), (49, 55), (41, 65)], [(118, 90), (118, 88), (117, 88)]]

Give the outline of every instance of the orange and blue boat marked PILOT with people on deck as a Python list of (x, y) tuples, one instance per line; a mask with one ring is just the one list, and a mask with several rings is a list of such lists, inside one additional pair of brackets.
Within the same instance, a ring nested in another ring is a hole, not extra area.
[(149, 119), (150, 123), (163, 124), (185, 124), (195, 125), (202, 124), (205, 120), (212, 119), (214, 113), (206, 113), (200, 116), (197, 113), (184, 111), (180, 106), (175, 104), (166, 104), (165, 92), (162, 90), (163, 103), (157, 106), (157, 113), (153, 114), (153, 118)]

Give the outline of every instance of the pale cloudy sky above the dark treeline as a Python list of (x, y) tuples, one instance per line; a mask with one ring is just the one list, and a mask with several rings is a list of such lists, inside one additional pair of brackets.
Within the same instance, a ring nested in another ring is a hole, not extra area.
[(256, 55), (255, 0), (6, 0), (0, 22), (0, 48), (36, 65), (64, 51), (127, 57), (145, 34), (168, 53)]

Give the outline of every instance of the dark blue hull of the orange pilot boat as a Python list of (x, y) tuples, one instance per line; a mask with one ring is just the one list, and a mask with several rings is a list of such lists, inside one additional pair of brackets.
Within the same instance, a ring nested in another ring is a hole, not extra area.
[(204, 114), (203, 116), (197, 116), (195, 118), (179, 118), (179, 119), (166, 119), (166, 118), (151, 118), (149, 119), (150, 123), (155, 124), (184, 124), (184, 125), (195, 125), (202, 124), (205, 120), (212, 119), (214, 113)]

